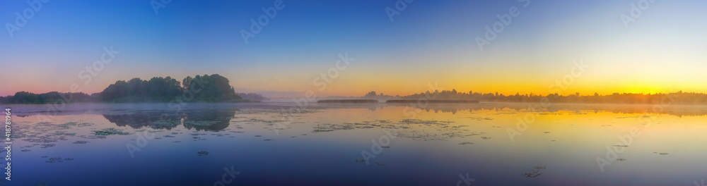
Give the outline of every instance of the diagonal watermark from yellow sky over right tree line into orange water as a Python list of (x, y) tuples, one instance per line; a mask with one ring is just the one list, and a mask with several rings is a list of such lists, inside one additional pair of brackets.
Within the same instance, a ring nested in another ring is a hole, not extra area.
[[(562, 94), (563, 90), (566, 90), (567, 87), (570, 85), (574, 84), (575, 78), (578, 78), (582, 76), (582, 74), (589, 68), (588, 64), (584, 63), (584, 60), (581, 60), (579, 62), (577, 61), (572, 61), (572, 68), (570, 68), (569, 73), (564, 75), (562, 78), (555, 80), (555, 82), (550, 83), (550, 85), (547, 87), (548, 92), (550, 94)], [(525, 132), (527, 130), (528, 125), (531, 125), (532, 123), (535, 122), (535, 118), (539, 116), (539, 113), (542, 112), (544, 109), (547, 109), (550, 106), (550, 100), (547, 97), (543, 97), (540, 99), (540, 103), (538, 105), (528, 106), (528, 112), (525, 114), (525, 116), (515, 118), (518, 120), (518, 123), (515, 124), (515, 128), (506, 128), (506, 132), (508, 133), (508, 137), (510, 137), (510, 142), (515, 142), (515, 137), (522, 135), (522, 132)]]

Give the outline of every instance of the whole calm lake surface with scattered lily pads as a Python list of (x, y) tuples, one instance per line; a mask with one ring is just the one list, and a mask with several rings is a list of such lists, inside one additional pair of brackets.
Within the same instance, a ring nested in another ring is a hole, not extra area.
[(706, 106), (6, 107), (13, 111), (12, 180), (0, 185), (694, 185), (707, 179)]

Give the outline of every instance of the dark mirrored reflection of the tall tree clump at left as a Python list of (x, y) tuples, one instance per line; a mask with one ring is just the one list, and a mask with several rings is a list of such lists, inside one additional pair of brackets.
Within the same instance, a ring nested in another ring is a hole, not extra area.
[(173, 111), (138, 111), (117, 115), (103, 114), (110, 123), (119, 127), (152, 128), (155, 130), (171, 130), (177, 125), (183, 125), (191, 130), (218, 131), (228, 128), (235, 109), (197, 109), (185, 110), (175, 114)]

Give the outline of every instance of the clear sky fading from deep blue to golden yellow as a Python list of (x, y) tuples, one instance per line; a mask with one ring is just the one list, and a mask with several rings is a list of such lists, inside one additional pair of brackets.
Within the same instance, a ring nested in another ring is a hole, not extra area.
[(276, 2), (1, 1), (0, 96), (215, 73), (270, 97), (707, 92), (707, 1)]

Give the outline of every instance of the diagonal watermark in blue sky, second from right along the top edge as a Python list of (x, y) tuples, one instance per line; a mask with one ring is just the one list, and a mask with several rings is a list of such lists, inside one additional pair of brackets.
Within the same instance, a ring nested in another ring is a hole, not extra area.
[[(518, 2), (522, 4), (523, 8), (530, 6), (530, 0), (518, 0)], [(508, 13), (503, 15), (496, 14), (498, 21), (493, 23), (491, 26), (486, 25), (486, 34), (484, 37), (477, 37), (475, 39), (477, 41), (477, 46), (479, 46), (479, 50), (484, 51), (484, 46), (491, 44), (491, 42), (498, 37), (498, 34), (501, 34), (503, 30), (506, 30), (506, 27), (510, 25), (510, 23), (513, 23), (513, 18), (518, 16), (520, 16), (520, 10), (518, 10), (518, 7), (516, 6), (510, 6), (510, 8), (508, 8)]]

